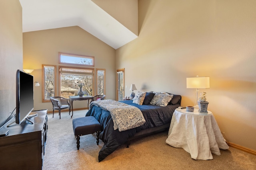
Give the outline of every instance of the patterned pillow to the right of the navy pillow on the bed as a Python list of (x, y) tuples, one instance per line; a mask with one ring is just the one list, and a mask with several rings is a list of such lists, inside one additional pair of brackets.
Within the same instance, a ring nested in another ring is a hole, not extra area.
[(156, 93), (150, 104), (158, 106), (167, 106), (168, 103), (172, 100), (172, 94)]

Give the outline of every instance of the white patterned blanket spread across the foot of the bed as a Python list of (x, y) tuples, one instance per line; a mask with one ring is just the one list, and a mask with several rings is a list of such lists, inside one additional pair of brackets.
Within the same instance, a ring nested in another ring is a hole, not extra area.
[(146, 120), (140, 109), (115, 100), (98, 100), (90, 104), (109, 111), (114, 122), (114, 130), (120, 132), (143, 125)]

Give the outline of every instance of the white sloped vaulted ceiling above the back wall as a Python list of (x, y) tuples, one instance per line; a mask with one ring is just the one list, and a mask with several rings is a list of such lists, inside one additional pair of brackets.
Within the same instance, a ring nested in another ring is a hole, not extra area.
[(79, 26), (114, 49), (138, 36), (91, 0), (20, 0), (23, 32)]

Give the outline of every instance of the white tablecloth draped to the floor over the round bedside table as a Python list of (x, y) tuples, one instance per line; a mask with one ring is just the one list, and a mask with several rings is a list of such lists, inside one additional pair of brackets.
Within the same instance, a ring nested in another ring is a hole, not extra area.
[(220, 155), (220, 149), (229, 148), (214, 115), (198, 115), (196, 109), (195, 114), (182, 113), (181, 109), (174, 111), (166, 143), (183, 148), (191, 158), (200, 160), (213, 159), (212, 153)]

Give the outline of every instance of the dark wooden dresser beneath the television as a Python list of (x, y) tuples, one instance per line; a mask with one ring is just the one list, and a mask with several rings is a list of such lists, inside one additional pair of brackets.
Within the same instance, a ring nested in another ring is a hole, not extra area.
[(0, 137), (0, 170), (41, 170), (47, 138), (47, 110), (32, 111), (34, 124), (24, 120), (4, 126), (9, 130), (6, 137)]

